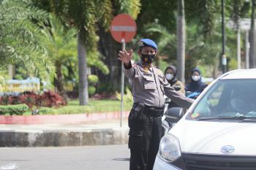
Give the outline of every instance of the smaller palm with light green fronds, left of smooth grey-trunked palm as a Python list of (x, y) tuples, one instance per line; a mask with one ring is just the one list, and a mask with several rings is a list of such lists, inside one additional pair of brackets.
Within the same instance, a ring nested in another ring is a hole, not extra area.
[(55, 15), (50, 15), (49, 26), (43, 25), (42, 44), (48, 51), (48, 56), (55, 64), (56, 74), (54, 85), (58, 93), (67, 101), (67, 94), (64, 90), (64, 77), (61, 66), (76, 55), (77, 32), (74, 28), (64, 28), (63, 23)]

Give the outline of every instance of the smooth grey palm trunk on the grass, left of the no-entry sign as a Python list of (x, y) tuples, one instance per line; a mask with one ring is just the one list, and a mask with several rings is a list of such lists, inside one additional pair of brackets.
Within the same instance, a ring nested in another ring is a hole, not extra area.
[(79, 73), (79, 103), (89, 104), (86, 47), (83, 42), (83, 28), (78, 32), (78, 73)]

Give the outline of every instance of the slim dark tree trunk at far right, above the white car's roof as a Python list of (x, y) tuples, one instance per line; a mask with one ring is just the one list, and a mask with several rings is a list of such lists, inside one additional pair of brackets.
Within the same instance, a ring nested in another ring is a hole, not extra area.
[(255, 6), (256, 0), (252, 0), (251, 30), (249, 36), (249, 68), (255, 68)]

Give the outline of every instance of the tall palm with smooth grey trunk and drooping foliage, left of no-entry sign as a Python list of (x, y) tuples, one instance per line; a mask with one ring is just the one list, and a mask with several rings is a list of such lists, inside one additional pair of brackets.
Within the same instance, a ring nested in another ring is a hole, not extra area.
[(111, 19), (110, 0), (50, 1), (52, 11), (74, 26), (78, 31), (78, 72), (80, 105), (89, 103), (87, 79), (87, 54), (97, 51), (97, 22), (108, 26)]

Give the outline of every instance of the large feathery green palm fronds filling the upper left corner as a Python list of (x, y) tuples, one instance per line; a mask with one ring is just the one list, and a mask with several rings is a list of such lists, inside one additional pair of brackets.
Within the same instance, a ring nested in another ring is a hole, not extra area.
[(47, 13), (30, 1), (0, 2), (0, 67), (18, 64), (29, 74), (47, 77), (53, 69), (46, 50), (39, 42), (37, 21), (47, 22)]

